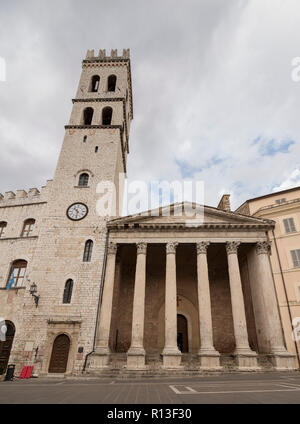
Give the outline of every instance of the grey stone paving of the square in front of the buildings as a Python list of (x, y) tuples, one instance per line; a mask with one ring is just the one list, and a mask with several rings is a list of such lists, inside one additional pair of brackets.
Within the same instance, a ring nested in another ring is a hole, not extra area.
[(0, 383), (1, 404), (299, 404), (300, 373), (183, 378), (41, 378)]

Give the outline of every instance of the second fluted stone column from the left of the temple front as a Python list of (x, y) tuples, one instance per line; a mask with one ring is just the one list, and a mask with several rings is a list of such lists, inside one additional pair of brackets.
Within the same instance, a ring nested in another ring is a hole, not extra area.
[(145, 367), (144, 321), (146, 291), (147, 243), (137, 243), (137, 260), (132, 313), (131, 346), (127, 352), (127, 368)]

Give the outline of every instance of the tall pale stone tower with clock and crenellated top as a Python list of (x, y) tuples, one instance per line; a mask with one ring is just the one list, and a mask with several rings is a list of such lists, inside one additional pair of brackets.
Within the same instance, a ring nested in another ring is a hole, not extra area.
[[(67, 372), (82, 370), (93, 349), (106, 248), (106, 219), (96, 211), (97, 186), (113, 182), (122, 203), (119, 175), (126, 174), (133, 117), (129, 50), (118, 56), (88, 51), (45, 213), (27, 276), (40, 296), (38, 309), (26, 293), (23, 342), (38, 348), (36, 370), (46, 374), (58, 334), (70, 338)], [(86, 243), (92, 244), (89, 261)], [(66, 283), (72, 301), (63, 301)], [(38, 369), (40, 368), (40, 369)]]

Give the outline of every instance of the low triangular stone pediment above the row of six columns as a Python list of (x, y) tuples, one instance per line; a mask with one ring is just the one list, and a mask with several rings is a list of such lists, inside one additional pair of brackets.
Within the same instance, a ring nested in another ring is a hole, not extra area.
[(134, 224), (141, 225), (269, 225), (274, 224), (271, 220), (242, 215), (236, 212), (228, 212), (212, 206), (198, 205), (195, 203), (176, 203), (157, 209), (151, 209), (136, 215), (112, 219), (109, 226), (123, 226)]

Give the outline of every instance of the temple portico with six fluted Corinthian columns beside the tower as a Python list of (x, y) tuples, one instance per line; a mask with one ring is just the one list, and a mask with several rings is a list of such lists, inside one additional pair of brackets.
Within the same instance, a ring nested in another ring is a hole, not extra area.
[[(162, 368), (182, 367), (183, 338), (199, 369), (220, 369), (224, 354), (238, 369), (257, 369), (257, 354), (270, 355), (275, 368), (293, 367), (270, 268), (270, 221), (205, 207), (204, 222), (195, 226), (174, 215), (108, 225), (91, 369), (109, 366), (112, 352), (127, 354), (127, 369), (145, 369), (151, 355)], [(263, 319), (266, 307), (272, 325)], [(179, 316), (186, 323), (180, 331)]]

